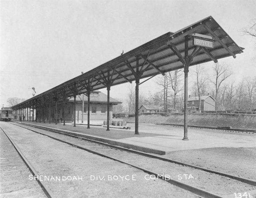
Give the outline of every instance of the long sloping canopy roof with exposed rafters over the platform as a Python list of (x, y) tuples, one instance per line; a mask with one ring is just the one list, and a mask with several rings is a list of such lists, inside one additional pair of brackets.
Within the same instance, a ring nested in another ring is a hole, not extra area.
[[(214, 48), (204, 49), (193, 45), (192, 39), (188, 42), (188, 55), (194, 56), (189, 66), (208, 62), (228, 56), (236, 57), (243, 52), (220, 25), (211, 17), (200, 20), (177, 32), (168, 32), (156, 39), (149, 41), (127, 53), (124, 53), (98, 67), (68, 80), (48, 91), (34, 96), (20, 104), (31, 104), (32, 101), (41, 101), (46, 97), (69, 98), (75, 94), (87, 93), (85, 87), (91, 91), (102, 89), (108, 85), (118, 85), (136, 80), (136, 72), (140, 72), (139, 78), (152, 77), (157, 74), (183, 68), (182, 57), (185, 53), (185, 37), (193, 33), (211, 36), (214, 40)], [(195, 55), (196, 52), (196, 55)], [(111, 82), (111, 84), (108, 84)], [(17, 105), (15, 105), (17, 106)], [(15, 107), (13, 106), (13, 107)]]

